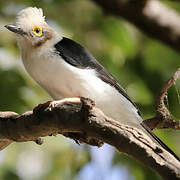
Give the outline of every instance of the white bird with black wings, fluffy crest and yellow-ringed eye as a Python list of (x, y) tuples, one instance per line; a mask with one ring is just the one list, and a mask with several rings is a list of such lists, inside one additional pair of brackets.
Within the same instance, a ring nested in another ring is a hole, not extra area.
[(5, 27), (16, 34), (29, 75), (54, 100), (72, 97), (92, 99), (104, 114), (121, 124), (136, 127), (170, 152), (146, 125), (135, 103), (118, 81), (79, 43), (50, 27), (41, 8), (27, 7)]

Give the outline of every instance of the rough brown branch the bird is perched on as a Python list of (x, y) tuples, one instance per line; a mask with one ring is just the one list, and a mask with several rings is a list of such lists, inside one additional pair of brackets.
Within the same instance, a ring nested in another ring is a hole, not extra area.
[(91, 100), (71, 98), (47, 102), (22, 115), (0, 113), (0, 141), (39, 141), (63, 134), (76, 142), (108, 143), (154, 169), (163, 179), (180, 178), (180, 162), (146, 134), (105, 116)]

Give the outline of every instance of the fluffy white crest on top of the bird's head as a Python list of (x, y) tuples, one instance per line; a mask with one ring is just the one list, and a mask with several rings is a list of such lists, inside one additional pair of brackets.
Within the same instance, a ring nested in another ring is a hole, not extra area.
[(28, 30), (36, 25), (42, 25), (45, 23), (45, 16), (41, 8), (28, 7), (21, 10), (16, 17), (16, 25), (23, 30)]

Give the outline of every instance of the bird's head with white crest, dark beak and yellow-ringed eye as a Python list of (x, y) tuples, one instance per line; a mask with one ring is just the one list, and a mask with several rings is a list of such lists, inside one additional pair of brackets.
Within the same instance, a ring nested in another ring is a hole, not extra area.
[(5, 27), (17, 35), (20, 46), (41, 46), (55, 35), (45, 21), (42, 9), (36, 7), (21, 10), (17, 14), (15, 25)]

